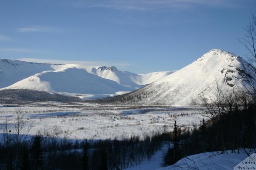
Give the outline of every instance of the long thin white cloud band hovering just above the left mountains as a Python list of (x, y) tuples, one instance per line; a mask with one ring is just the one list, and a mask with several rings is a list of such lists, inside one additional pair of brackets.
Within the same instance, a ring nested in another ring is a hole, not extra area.
[(74, 60), (54, 60), (54, 59), (37, 59), (37, 58), (20, 58), (18, 60), (35, 62), (35, 63), (50, 63), (50, 64), (76, 64), (82, 66), (116, 66), (116, 67), (127, 67), (133, 65), (126, 61), (74, 61)]

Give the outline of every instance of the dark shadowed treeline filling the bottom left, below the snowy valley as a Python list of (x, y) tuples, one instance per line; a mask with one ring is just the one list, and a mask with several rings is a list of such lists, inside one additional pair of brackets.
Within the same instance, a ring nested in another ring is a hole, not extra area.
[[(19, 120), (21, 120), (19, 118)], [(22, 123), (20, 123), (22, 125)], [(22, 125), (23, 126), (23, 125)], [(24, 128), (20, 129), (25, 132)], [(16, 131), (16, 130), (15, 130)], [(68, 140), (58, 138), (58, 127), (35, 136), (7, 130), (0, 142), (1, 170), (107, 170), (140, 164), (162, 148), (169, 133), (122, 140)]]

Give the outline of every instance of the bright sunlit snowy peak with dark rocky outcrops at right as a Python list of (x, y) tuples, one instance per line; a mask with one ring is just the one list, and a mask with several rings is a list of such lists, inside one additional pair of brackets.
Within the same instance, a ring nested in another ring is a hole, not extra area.
[[(200, 95), (216, 89), (242, 88), (240, 71), (244, 59), (233, 53), (212, 49), (186, 67), (132, 93), (107, 99), (110, 102), (188, 106)], [(104, 100), (104, 99), (103, 99)]]

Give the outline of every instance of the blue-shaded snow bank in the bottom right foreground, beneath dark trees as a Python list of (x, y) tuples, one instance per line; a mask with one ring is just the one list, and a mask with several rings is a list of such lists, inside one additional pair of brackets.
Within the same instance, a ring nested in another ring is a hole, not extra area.
[[(126, 170), (233, 170), (234, 166), (247, 158), (247, 154), (240, 150), (224, 154), (220, 152), (206, 152), (187, 156), (172, 166), (163, 167), (163, 156), (166, 149), (160, 150), (150, 160), (144, 160), (140, 165)], [(247, 150), (250, 154), (252, 150)]]

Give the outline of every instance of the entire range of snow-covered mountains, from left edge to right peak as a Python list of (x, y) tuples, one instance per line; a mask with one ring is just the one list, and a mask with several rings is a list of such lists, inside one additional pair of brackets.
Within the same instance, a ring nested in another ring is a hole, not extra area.
[(89, 68), (76, 64), (0, 61), (0, 85), (8, 86), (3, 89), (32, 89), (61, 94), (98, 95), (97, 97), (136, 90), (106, 100), (172, 106), (197, 104), (203, 92), (208, 94), (215, 88), (216, 81), (224, 91), (242, 88), (240, 72), (242, 63), (246, 62), (233, 53), (213, 49), (176, 72), (163, 71), (140, 75), (119, 71), (114, 66)]

